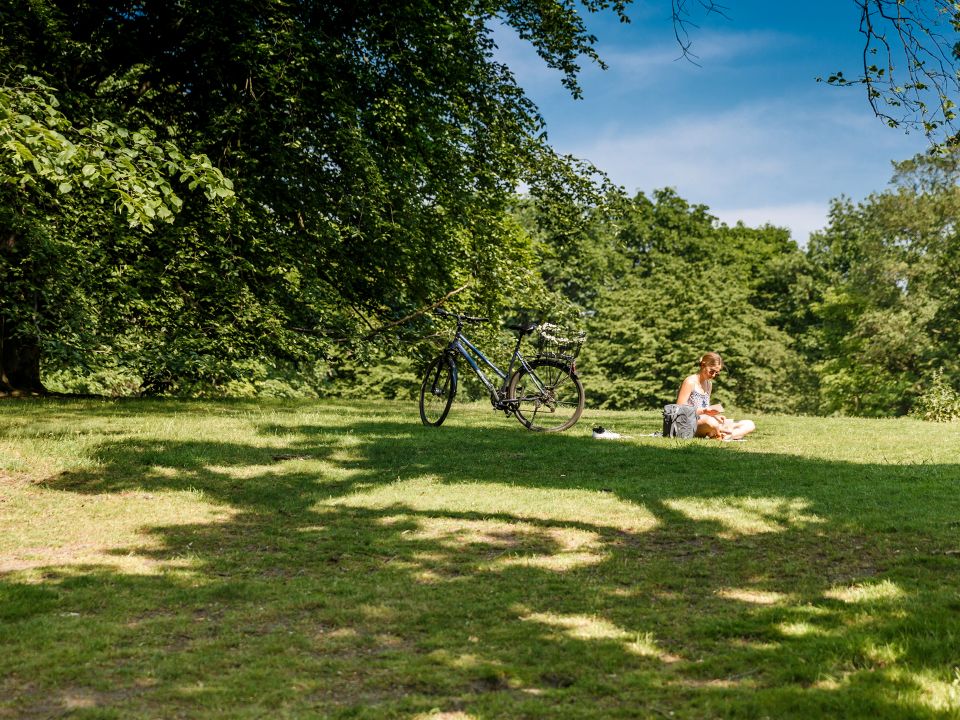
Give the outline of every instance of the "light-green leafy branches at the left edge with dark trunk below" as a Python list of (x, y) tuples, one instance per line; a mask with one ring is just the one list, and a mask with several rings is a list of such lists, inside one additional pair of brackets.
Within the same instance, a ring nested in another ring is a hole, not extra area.
[(0, 392), (43, 392), (40, 336), (55, 333), (62, 351), (77, 333), (69, 332), (76, 314), (58, 316), (86, 300), (76, 283), (83, 253), (65, 241), (65, 222), (82, 224), (98, 205), (122, 214), (129, 228), (171, 222), (183, 201), (170, 176), (210, 199), (233, 195), (207, 157), (184, 157), (149, 130), (78, 128), (58, 104), (38, 78), (8, 76), (0, 86)]

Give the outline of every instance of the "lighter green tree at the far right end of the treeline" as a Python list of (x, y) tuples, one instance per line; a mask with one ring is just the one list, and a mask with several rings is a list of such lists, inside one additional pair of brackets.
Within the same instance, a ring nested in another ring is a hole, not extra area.
[(895, 185), (834, 202), (811, 239), (821, 410), (902, 415), (936, 374), (960, 372), (960, 190), (955, 156), (896, 164)]

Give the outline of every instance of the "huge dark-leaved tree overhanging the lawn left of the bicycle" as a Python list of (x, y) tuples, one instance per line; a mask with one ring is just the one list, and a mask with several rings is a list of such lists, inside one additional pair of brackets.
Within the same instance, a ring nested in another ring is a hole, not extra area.
[(457, 291), (498, 308), (529, 279), (509, 271), (527, 242), (503, 213), (517, 184), (587, 186), (495, 60), (496, 22), (578, 92), (578, 62), (596, 54), (567, 2), (9, 3), (4, 77), (29, 68), (78, 127), (152, 128), (157, 143), (209, 156), (237, 202), (211, 211), (185, 197), (176, 222), (149, 236), (51, 210), (19, 233), (8, 271), (65, 267), (43, 235), (109, 272), (77, 262), (79, 275), (45, 276), (47, 288), (82, 287), (85, 302), (53, 313), (45, 293), (17, 301), (4, 312), (33, 303), (36, 322), (7, 347), (67, 359), (54, 325), (72, 315), (86, 331), (70, 361), (122, 360), (162, 390), (221, 382), (251, 358), (342, 353)]

